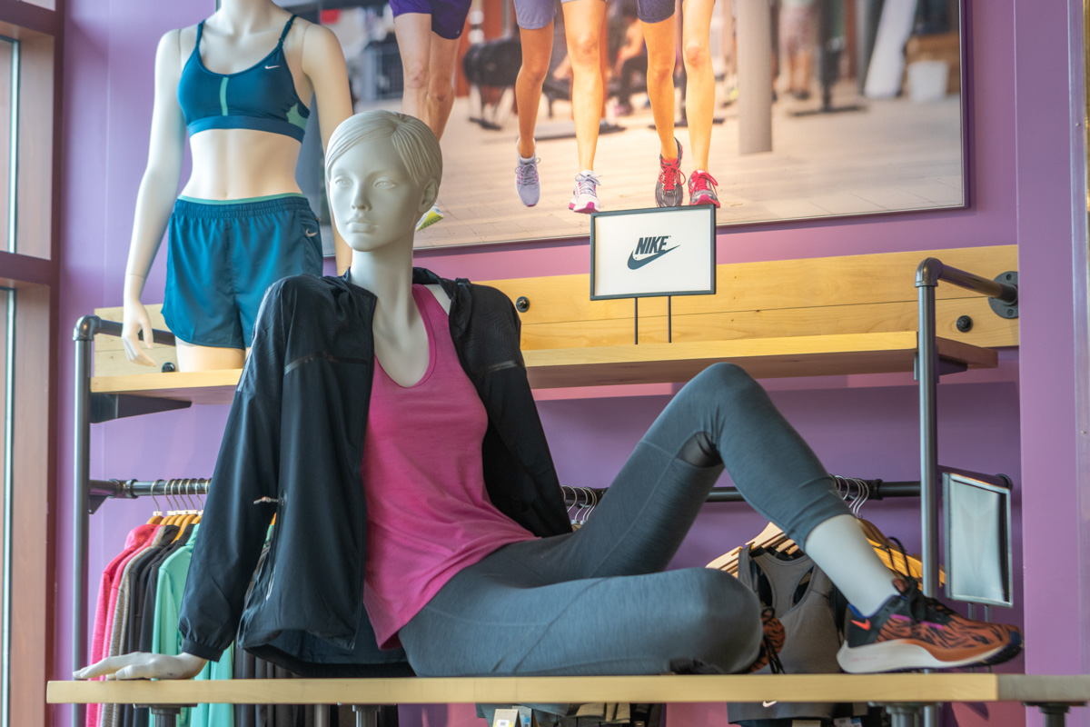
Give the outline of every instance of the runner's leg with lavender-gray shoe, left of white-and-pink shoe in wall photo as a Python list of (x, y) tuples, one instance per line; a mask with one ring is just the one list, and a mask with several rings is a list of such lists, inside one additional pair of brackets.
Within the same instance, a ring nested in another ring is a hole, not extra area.
[(518, 163), (514, 167), (514, 191), (526, 207), (541, 198), (537, 178), (537, 109), (542, 85), (553, 58), (553, 20), (556, 12), (550, 0), (516, 0), (514, 16), (522, 45), (522, 66), (514, 81), (514, 101), (519, 112)]

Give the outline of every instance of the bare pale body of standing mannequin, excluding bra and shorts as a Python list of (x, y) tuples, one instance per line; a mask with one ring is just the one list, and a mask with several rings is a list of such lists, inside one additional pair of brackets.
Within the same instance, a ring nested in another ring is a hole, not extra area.
[[(287, 11), (269, 0), (223, 0), (220, 10), (205, 22), (201, 60), (214, 73), (244, 71), (276, 47), (289, 17)], [(196, 38), (195, 25), (170, 31), (159, 40), (156, 51), (152, 137), (125, 269), (122, 332), (129, 360), (145, 365), (155, 362), (137, 341), (141, 330), (152, 328), (141, 295), (178, 196), (186, 136), (185, 119), (177, 99), (178, 82)], [(348, 73), (340, 46), (327, 28), (296, 20), (284, 38), (283, 49), (299, 97), (307, 102), (312, 95), (315, 98), (325, 147), (332, 130), (351, 114)], [(300, 191), (295, 183), (300, 143), (290, 136), (250, 129), (209, 129), (190, 138), (190, 149), (192, 172), (181, 191), (183, 196), (222, 202)], [(351, 260), (351, 251), (339, 234), (335, 233), (335, 239), (337, 268), (343, 271)], [(182, 371), (240, 368), (244, 358), (242, 349), (178, 341), (178, 363)]]

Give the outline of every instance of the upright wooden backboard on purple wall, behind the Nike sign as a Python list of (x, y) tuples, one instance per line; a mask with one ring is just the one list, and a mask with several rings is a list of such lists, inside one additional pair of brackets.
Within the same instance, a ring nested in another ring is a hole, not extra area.
[[(910, 253), (881, 253), (841, 257), (724, 264), (717, 267), (718, 293), (678, 296), (673, 302), (675, 341), (736, 338), (778, 338), (815, 334), (858, 334), (915, 330), (917, 327), (916, 268), (924, 257), (984, 277), (1017, 267), (1017, 247), (964, 247)], [(590, 276), (552, 276), (484, 281), (511, 300), (530, 299), (521, 314), (523, 349), (623, 346), (631, 343), (634, 306), (631, 300), (591, 301)], [(1018, 346), (1018, 322), (992, 313), (985, 298), (949, 284), (937, 289), (940, 336), (974, 346)], [(160, 305), (148, 305), (152, 325), (166, 329)], [(122, 308), (95, 312), (121, 320)], [(968, 334), (958, 331), (961, 315), (973, 319)], [(665, 342), (666, 301), (640, 303), (643, 343)], [(129, 362), (121, 339), (99, 336), (95, 341), (95, 374), (149, 375), (171, 361), (174, 349), (150, 351), (156, 367)]]

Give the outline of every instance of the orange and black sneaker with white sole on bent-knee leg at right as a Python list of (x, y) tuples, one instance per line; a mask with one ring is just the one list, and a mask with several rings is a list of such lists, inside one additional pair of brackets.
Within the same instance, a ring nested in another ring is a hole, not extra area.
[(928, 598), (916, 579), (894, 581), (898, 595), (871, 616), (855, 608), (836, 661), (849, 674), (955, 669), (1006, 662), (1022, 647), (1013, 626), (965, 618)]

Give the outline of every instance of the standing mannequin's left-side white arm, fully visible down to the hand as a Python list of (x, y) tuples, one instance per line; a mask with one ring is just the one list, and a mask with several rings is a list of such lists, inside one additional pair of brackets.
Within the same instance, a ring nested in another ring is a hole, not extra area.
[(155, 104), (152, 110), (152, 137), (147, 168), (136, 195), (136, 215), (129, 243), (129, 263), (124, 280), (124, 327), (121, 335), (130, 361), (154, 365), (140, 350), (137, 334), (144, 331), (144, 346), (152, 348), (152, 325), (141, 303), (144, 281), (159, 250), (181, 177), (185, 149), (185, 119), (178, 106), (178, 78), (181, 74), (179, 31), (159, 39), (155, 53)]

